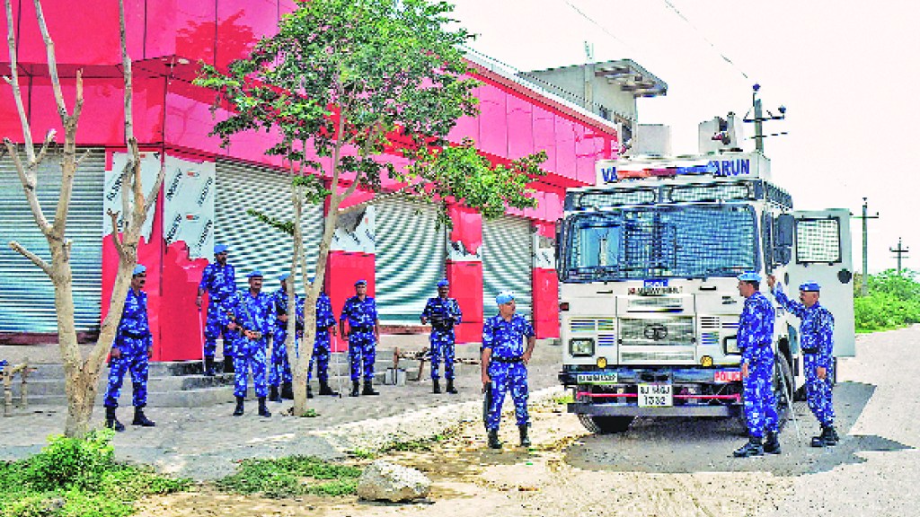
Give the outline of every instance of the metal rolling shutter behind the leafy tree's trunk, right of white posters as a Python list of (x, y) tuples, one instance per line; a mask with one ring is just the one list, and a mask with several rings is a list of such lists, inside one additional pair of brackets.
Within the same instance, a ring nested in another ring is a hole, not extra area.
[[(278, 275), (291, 268), (291, 236), (260, 222), (247, 210), (293, 219), (290, 175), (264, 167), (218, 159), (214, 205), (214, 243), (230, 247), (227, 261), (236, 267), (236, 285), (247, 289), (246, 275), (261, 270), (263, 289), (278, 289)], [(322, 205), (306, 205), (303, 215), (307, 274), (313, 276), (323, 236)], [(299, 282), (298, 282), (299, 285)]]

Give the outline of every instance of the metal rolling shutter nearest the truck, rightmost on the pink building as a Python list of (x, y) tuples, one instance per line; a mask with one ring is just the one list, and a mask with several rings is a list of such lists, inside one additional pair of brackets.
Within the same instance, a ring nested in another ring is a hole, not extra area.
[(513, 291), (517, 312), (530, 318), (533, 301), (533, 236), (530, 221), (502, 216), (482, 222), (482, 285), (485, 317), (498, 313), (495, 295)]

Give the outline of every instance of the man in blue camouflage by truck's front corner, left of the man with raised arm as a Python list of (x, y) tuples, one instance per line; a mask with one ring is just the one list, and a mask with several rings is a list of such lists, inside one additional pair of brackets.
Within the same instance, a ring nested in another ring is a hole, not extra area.
[[(744, 378), (744, 417), (748, 442), (733, 454), (736, 457), (779, 454), (779, 416), (773, 394), (773, 324), (776, 311), (760, 292), (761, 277), (749, 271), (738, 276), (738, 293), (745, 298), (738, 320), (738, 349), (742, 350)], [(764, 431), (766, 441), (764, 442)]]

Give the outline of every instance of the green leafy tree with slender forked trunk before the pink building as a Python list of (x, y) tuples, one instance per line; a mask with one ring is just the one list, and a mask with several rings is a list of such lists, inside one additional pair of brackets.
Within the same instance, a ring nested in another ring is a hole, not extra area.
[[(467, 76), (461, 45), (472, 38), (454, 27), (453, 6), (426, 0), (313, 0), (282, 18), (279, 32), (260, 40), (246, 59), (224, 73), (204, 66), (200, 86), (217, 93), (215, 107), (231, 114), (213, 134), (228, 144), (239, 132), (277, 132), (266, 150), (282, 155), (293, 176), (293, 221), (272, 214), (261, 218), (293, 236), (291, 272), (300, 269), (307, 307), (304, 343), (316, 332), (313, 307), (324, 278), (327, 256), (342, 209), (356, 189), (380, 192), (388, 175), (404, 182), (399, 192), (477, 208), (487, 217), (508, 206), (534, 207), (527, 184), (543, 174), (546, 155), (527, 156), (492, 167), (472, 143), (449, 146), (444, 140), (455, 121), (473, 115), (477, 82)], [(397, 171), (381, 159), (388, 149), (403, 149), (414, 162)], [(324, 166), (309, 159), (328, 158)], [(393, 195), (392, 192), (382, 195)], [(316, 282), (306, 279), (299, 213), (304, 203), (327, 201), (328, 216), (316, 257)], [(446, 215), (442, 221), (449, 223)], [(293, 282), (289, 290), (293, 293)], [(289, 296), (288, 314), (293, 312)], [(308, 354), (294, 354), (294, 318), (288, 322), (287, 350), (294, 366), (294, 414), (306, 411)], [(305, 347), (308, 345), (305, 345)]]

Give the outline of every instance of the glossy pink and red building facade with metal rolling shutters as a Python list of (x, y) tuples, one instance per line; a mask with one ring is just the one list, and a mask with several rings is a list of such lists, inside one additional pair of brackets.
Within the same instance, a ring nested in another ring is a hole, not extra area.
[[(290, 210), (284, 164), (263, 154), (272, 135), (240, 135), (221, 147), (217, 138), (208, 135), (214, 123), (209, 110), (213, 94), (191, 81), (199, 61), (223, 66), (243, 56), (259, 37), (276, 30), (279, 17), (293, 8), (293, 2), (285, 0), (126, 1), (135, 134), (145, 152), (145, 173), (149, 176), (158, 167), (167, 167), (140, 259), (148, 268), (155, 360), (201, 358), (201, 314), (194, 298), (215, 242), (231, 247), (230, 261), (236, 264), (241, 287), (247, 270), (258, 268), (266, 273), (266, 289), (274, 290), (274, 277), (286, 268), (285, 250), (290, 245), (285, 237), (273, 235), (246, 214), (247, 207)], [(14, 10), (20, 86), (33, 137), (40, 141), (51, 128), (59, 135), (63, 132), (32, 3), (15, 1)], [(119, 170), (119, 160), (124, 158), (118, 6), (108, 0), (85, 0), (78, 7), (46, 0), (44, 12), (69, 103), (76, 71), (84, 74), (86, 100), (77, 143), (93, 153), (79, 172), (69, 225), (75, 246), (83, 250), (74, 261), (77, 324), (91, 334), (98, 329), (100, 310), (108, 304), (106, 293), (116, 260), (104, 234), (110, 230), (106, 207), (119, 196), (113, 171)], [(6, 31), (6, 21), (0, 25)], [(0, 57), (4, 75), (8, 75), (8, 61), (6, 55)], [(431, 206), (405, 199), (374, 202), (340, 225), (329, 257), (326, 291), (338, 315), (353, 293), (353, 282), (364, 279), (377, 297), (385, 331), (414, 333), (425, 330), (418, 316), (425, 299), (434, 294), (434, 281), (446, 277), (464, 312), (458, 342), (473, 343), (481, 339), (484, 316), (495, 312), (490, 302), (494, 294), (513, 289), (520, 294), (522, 311), (534, 321), (538, 337), (558, 337), (555, 223), (565, 189), (592, 183), (594, 162), (615, 155), (619, 147), (615, 127), (512, 75), (485, 64), (472, 65), (482, 82), (476, 92), (481, 112), (459, 121), (450, 139), (473, 138), (480, 152), (495, 163), (546, 150), (544, 167), (549, 174), (533, 185), (538, 207), (483, 221), (466, 207), (452, 206), (454, 226), (447, 230), (435, 223)], [(0, 103), (0, 136), (22, 142), (8, 86), (2, 95), (6, 100)], [(396, 154), (386, 158), (397, 167), (405, 164)], [(12, 170), (8, 159), (0, 162), (0, 239), (19, 240), (47, 255)], [(53, 187), (48, 178), (42, 187), (47, 202), (53, 202)], [(368, 197), (357, 192), (349, 202)], [(307, 215), (308, 250), (316, 248), (322, 218), (322, 207)], [(53, 333), (50, 281), (3, 248), (0, 340)]]

